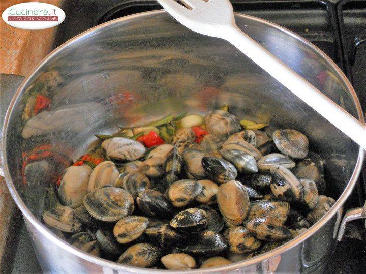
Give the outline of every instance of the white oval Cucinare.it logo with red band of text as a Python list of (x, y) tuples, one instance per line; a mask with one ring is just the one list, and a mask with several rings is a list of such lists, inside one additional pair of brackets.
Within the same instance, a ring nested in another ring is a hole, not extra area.
[(44, 29), (65, 20), (65, 12), (51, 4), (27, 2), (13, 5), (3, 12), (7, 24), (23, 29)]

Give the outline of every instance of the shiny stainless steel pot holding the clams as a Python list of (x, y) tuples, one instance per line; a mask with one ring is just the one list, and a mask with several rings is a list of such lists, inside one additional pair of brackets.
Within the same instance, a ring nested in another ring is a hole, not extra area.
[[(352, 86), (318, 48), (258, 18), (236, 14), (236, 22), (363, 122)], [(46, 74), (49, 71), (53, 74)], [(48, 88), (51, 110), (24, 128), (24, 102), (35, 88)], [(154, 11), (107, 22), (60, 46), (23, 81), (10, 103), (2, 135), (4, 176), (43, 270), (157, 271), (91, 256), (46, 228), (40, 221), (42, 200), (55, 169), (50, 168), (51, 158), (39, 159), (25, 172), (24, 186), (23, 150), (46, 142), (55, 153), (76, 159), (95, 144), (96, 133), (113, 132), (117, 126), (167, 113), (203, 113), (225, 103), (239, 117), (271, 120), (269, 131), (282, 127), (306, 133), (311, 149), (324, 160), (328, 194), (338, 200), (307, 232), (275, 250), (228, 266), (192, 272), (320, 269), (334, 248), (342, 205), (355, 185), (363, 150), (227, 42), (195, 34), (164, 11)]]

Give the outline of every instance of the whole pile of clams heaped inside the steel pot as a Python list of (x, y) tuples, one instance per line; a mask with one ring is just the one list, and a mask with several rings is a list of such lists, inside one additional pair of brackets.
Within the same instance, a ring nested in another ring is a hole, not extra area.
[(95, 256), (183, 270), (267, 252), (334, 204), (324, 196), (322, 159), (302, 133), (243, 129), (224, 110), (198, 126), (209, 133), (200, 143), (191, 127), (150, 149), (126, 137), (103, 140), (106, 160), (67, 168), (44, 222)]

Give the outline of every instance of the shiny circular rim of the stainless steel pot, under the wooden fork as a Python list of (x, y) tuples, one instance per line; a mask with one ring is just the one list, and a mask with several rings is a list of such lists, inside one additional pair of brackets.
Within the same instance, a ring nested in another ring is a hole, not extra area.
[[(136, 14), (125, 16), (125, 17), (117, 18), (117, 19), (108, 21), (106, 23), (97, 25), (93, 28), (90, 28), (87, 31), (73, 37), (72, 39), (68, 40), (64, 44), (62, 44), (59, 47), (57, 47), (56, 49), (54, 49), (51, 53), (49, 53), (41, 61), (41, 63), (38, 64), (38, 66), (33, 70), (33, 72), (31, 74), (29, 74), (23, 80), (22, 84), (19, 86), (17, 92), (15, 93), (15, 95), (14, 95), (14, 97), (13, 97), (13, 99), (12, 99), (12, 101), (11, 101), (9, 107), (8, 107), (8, 110), (7, 110), (7, 113), (6, 113), (6, 116), (5, 116), (5, 120), (4, 120), (4, 127), (3, 127), (3, 131), (2, 131), (3, 134), (2, 134), (2, 138), (1, 138), (1, 143), (4, 144), (4, 145), (2, 147), (2, 151), (0, 151), (0, 152), (2, 152), (0, 154), (2, 156), (2, 163), (3, 163), (3, 166), (4, 166), (4, 177), (5, 177), (5, 180), (6, 180), (6, 184), (9, 188), (9, 191), (10, 191), (13, 199), (15, 200), (17, 206), (20, 208), (20, 210), (23, 214), (23, 217), (25, 219), (27, 219), (29, 222), (31, 222), (32, 225), (35, 226), (37, 228), (37, 230), (39, 230), (42, 233), (42, 235), (46, 236), (47, 239), (50, 240), (55, 245), (65, 249), (67, 252), (70, 252), (73, 255), (76, 255), (76, 256), (84, 259), (84, 260), (87, 260), (89, 262), (100, 265), (100, 266), (103, 267), (103, 269), (104, 268), (112, 268), (112, 269), (115, 269), (115, 270), (118, 270), (118, 271), (130, 271), (130, 272), (139, 272), (139, 273), (161, 272), (160, 269), (144, 269), (144, 268), (140, 268), (140, 267), (134, 267), (134, 266), (119, 264), (119, 263), (112, 262), (112, 261), (109, 261), (109, 260), (105, 260), (105, 259), (102, 259), (102, 258), (99, 258), (99, 257), (95, 257), (95, 256), (90, 255), (88, 253), (85, 253), (83, 251), (80, 251), (80, 250), (76, 249), (75, 247), (73, 247), (72, 245), (70, 245), (68, 242), (66, 242), (66, 241), (62, 240), (61, 238), (57, 237), (50, 230), (48, 230), (40, 221), (38, 221), (37, 218), (34, 217), (32, 212), (27, 208), (27, 206), (24, 204), (24, 202), (20, 198), (20, 196), (19, 196), (19, 194), (18, 194), (18, 192), (17, 192), (17, 190), (16, 190), (16, 188), (15, 188), (13, 182), (12, 182), (11, 176), (10, 176), (8, 161), (7, 161), (7, 153), (6, 153), (6, 139), (7, 139), (6, 136), (7, 136), (7, 132), (8, 132), (9, 117), (10, 117), (10, 114), (12, 112), (13, 106), (15, 105), (19, 95), (22, 93), (22, 90), (23, 90), (24, 86), (26, 85), (26, 83), (28, 82), (28, 80), (31, 79), (36, 74), (36, 72), (49, 59), (51, 59), (54, 55), (56, 55), (60, 50), (63, 50), (64, 48), (67, 48), (68, 45), (70, 45), (72, 43), (76, 43), (79, 39), (82, 39), (87, 35), (93, 35), (93, 33), (95, 33), (96, 31), (99, 31), (100, 29), (111, 26), (113, 24), (120, 23), (120, 22), (125, 22), (125, 21), (128, 21), (130, 19), (143, 18), (143, 17), (149, 16), (149, 15), (161, 15), (161, 14), (167, 14), (167, 12), (165, 10), (155, 10), (155, 11), (147, 11), (147, 12), (142, 12), (142, 13), (136, 13)], [(244, 14), (241, 14), (241, 13), (235, 13), (235, 17), (248, 18), (250, 20), (259, 22), (261, 24), (277, 28), (280, 31), (286, 33), (287, 35), (292, 36), (293, 38), (297, 39), (298, 41), (306, 44), (308, 47), (310, 47), (311, 49), (316, 51), (319, 55), (321, 55), (328, 62), (328, 64), (339, 74), (342, 81), (345, 83), (345, 85), (346, 85), (348, 91), (350, 92), (350, 94), (352, 96), (352, 99), (355, 103), (358, 119), (361, 121), (362, 124), (364, 124), (362, 109), (361, 109), (358, 97), (357, 97), (351, 83), (349, 82), (347, 77), (344, 75), (344, 73), (341, 71), (341, 69), (323, 51), (321, 51), (318, 47), (316, 47), (314, 44), (312, 44), (308, 40), (300, 37), (299, 35), (293, 33), (292, 31), (289, 31), (288, 29), (286, 29), (282, 26), (279, 26), (277, 24), (271, 23), (269, 21), (266, 21), (266, 20), (263, 20), (263, 19), (260, 19), (260, 18), (257, 18), (257, 17), (244, 15)], [(276, 249), (273, 249), (269, 252), (266, 252), (262, 255), (255, 256), (251, 259), (241, 261), (241, 262), (232, 263), (232, 264), (221, 266), (221, 267), (207, 268), (207, 269), (192, 269), (192, 270), (186, 270), (186, 271), (174, 271), (174, 270), (164, 270), (164, 271), (165, 272), (170, 272), (170, 273), (178, 273), (178, 272), (179, 273), (181, 273), (181, 272), (208, 273), (208, 272), (219, 272), (219, 271), (234, 271), (234, 270), (238, 270), (242, 267), (248, 267), (250, 265), (255, 265), (255, 264), (260, 263), (264, 260), (268, 260), (272, 257), (281, 255), (285, 251), (293, 248), (294, 246), (298, 245), (299, 243), (301, 243), (302, 241), (306, 240), (308, 237), (313, 235), (316, 231), (318, 231), (325, 223), (327, 223), (337, 213), (337, 211), (341, 208), (341, 206), (347, 200), (347, 198), (349, 197), (349, 195), (351, 194), (351, 192), (352, 192), (352, 190), (355, 186), (356, 180), (357, 180), (358, 175), (360, 173), (360, 170), (362, 168), (363, 158), (364, 158), (364, 150), (360, 147), (357, 162), (356, 162), (356, 165), (355, 165), (354, 170), (352, 172), (351, 178), (350, 178), (346, 188), (342, 192), (340, 198), (335, 202), (335, 204), (327, 212), (327, 214), (325, 216), (323, 216), (317, 223), (315, 223), (313, 226), (311, 226), (307, 231), (303, 232), (301, 235), (299, 235), (296, 238), (284, 243), (284, 245), (282, 245), (282, 246), (280, 246)]]

